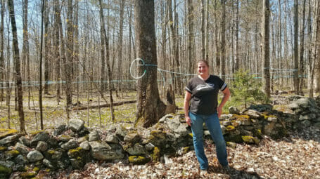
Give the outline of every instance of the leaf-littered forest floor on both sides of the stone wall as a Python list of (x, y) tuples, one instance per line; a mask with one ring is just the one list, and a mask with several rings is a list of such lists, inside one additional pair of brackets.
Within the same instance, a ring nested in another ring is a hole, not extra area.
[[(56, 98), (44, 95), (44, 128), (52, 128), (67, 122), (65, 101), (57, 105)], [(107, 97), (108, 98), (108, 97)], [(135, 93), (124, 93), (115, 101), (135, 100)], [(76, 97), (74, 97), (74, 100)], [(89, 100), (88, 100), (89, 99)], [(97, 96), (85, 95), (78, 99), (82, 106), (98, 105)], [(101, 100), (101, 99), (100, 99)], [(88, 102), (89, 101), (89, 102)], [(281, 100), (279, 100), (281, 101)], [(105, 104), (103, 100), (100, 104)], [(183, 98), (177, 98), (176, 104), (183, 107)], [(39, 108), (37, 97), (27, 105), (24, 101), (26, 129), (28, 133), (39, 131)], [(276, 110), (287, 112), (286, 104), (274, 106)], [(124, 104), (115, 107), (115, 122), (133, 125), (136, 105)], [(178, 113), (182, 113), (179, 110)], [(108, 107), (100, 109), (79, 110), (70, 112), (70, 118), (86, 121), (89, 128), (104, 128), (110, 121)], [(100, 122), (101, 121), (101, 122)], [(11, 128), (18, 129), (18, 112), (11, 101)], [(6, 102), (0, 104), (0, 128), (8, 128), (8, 108)], [(128, 161), (113, 163), (88, 163), (81, 170), (64, 170), (56, 172), (41, 171), (39, 178), (320, 178), (320, 129), (313, 126), (303, 131), (288, 131), (286, 138), (272, 140), (264, 136), (260, 145), (237, 144), (235, 148), (227, 147), (231, 172), (226, 173), (219, 166), (215, 145), (207, 140), (205, 152), (210, 161), (208, 173), (200, 173), (194, 151), (177, 157), (165, 159), (165, 163), (149, 162), (143, 166), (134, 166)], [(14, 175), (13, 175), (14, 176)]]

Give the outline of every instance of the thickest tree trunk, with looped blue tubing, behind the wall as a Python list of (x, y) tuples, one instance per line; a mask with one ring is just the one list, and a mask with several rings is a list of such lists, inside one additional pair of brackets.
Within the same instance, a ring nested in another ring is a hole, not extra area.
[[(134, 23), (136, 29), (137, 55), (146, 64), (157, 65), (155, 48), (154, 1), (134, 1)], [(149, 127), (165, 114), (165, 104), (160, 100), (155, 66), (138, 66), (138, 72), (148, 71), (137, 81), (137, 114), (135, 126)]]

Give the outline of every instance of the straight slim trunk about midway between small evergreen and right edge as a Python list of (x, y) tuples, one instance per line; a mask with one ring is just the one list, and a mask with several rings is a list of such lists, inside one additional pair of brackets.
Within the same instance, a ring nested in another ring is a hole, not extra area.
[(295, 0), (295, 3), (294, 3), (294, 18), (295, 18), (295, 25), (294, 25), (294, 28), (295, 28), (295, 37), (294, 37), (294, 72), (293, 72), (293, 84), (294, 84), (294, 87), (295, 87), (295, 94), (298, 95), (299, 94), (299, 77), (298, 77), (298, 69), (299, 69), (299, 66), (298, 66), (298, 62), (299, 62), (299, 58), (298, 58), (298, 50), (299, 50), (299, 47), (298, 47), (298, 33), (299, 33), (299, 21), (298, 21), (298, 18), (299, 18), (299, 14), (298, 14), (298, 0)]

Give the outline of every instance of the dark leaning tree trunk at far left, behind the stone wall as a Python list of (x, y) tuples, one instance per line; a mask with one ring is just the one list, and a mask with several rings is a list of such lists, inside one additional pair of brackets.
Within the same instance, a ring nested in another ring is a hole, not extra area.
[(20, 132), (26, 133), (25, 131), (25, 116), (23, 114), (23, 86), (21, 80), (21, 73), (20, 73), (20, 56), (19, 56), (19, 45), (18, 45), (18, 35), (17, 35), (17, 26), (15, 23), (15, 11), (13, 0), (8, 0), (8, 8), (9, 8), (9, 15), (11, 20), (11, 30), (13, 35), (13, 59), (15, 61), (15, 78), (16, 78), (16, 85), (18, 88), (18, 115), (20, 121)]

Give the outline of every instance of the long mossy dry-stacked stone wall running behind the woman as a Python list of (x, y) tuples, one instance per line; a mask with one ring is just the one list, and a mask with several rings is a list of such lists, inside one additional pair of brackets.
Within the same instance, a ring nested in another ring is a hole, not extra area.
[[(236, 142), (259, 145), (265, 135), (282, 138), (290, 128), (319, 126), (319, 103), (295, 98), (289, 105), (293, 114), (272, 110), (271, 105), (252, 105), (243, 112), (230, 107), (230, 113), (220, 117), (222, 132), (229, 147)], [(193, 150), (191, 128), (184, 120), (183, 114), (167, 114), (151, 128), (114, 124), (89, 130), (84, 121), (70, 119), (68, 126), (61, 124), (30, 135), (0, 130), (0, 178), (13, 171), (22, 171), (20, 176), (29, 178), (39, 170), (78, 169), (92, 160), (163, 161), (164, 155)], [(210, 138), (205, 125), (204, 136)]]

